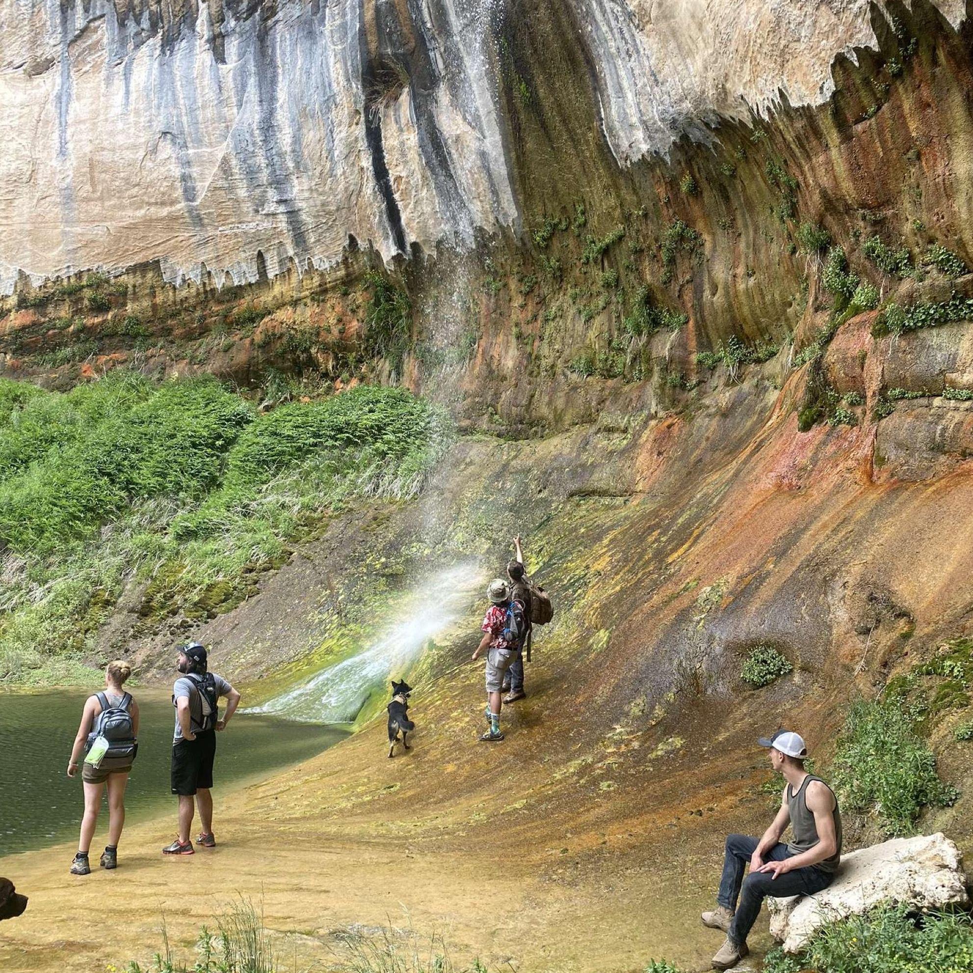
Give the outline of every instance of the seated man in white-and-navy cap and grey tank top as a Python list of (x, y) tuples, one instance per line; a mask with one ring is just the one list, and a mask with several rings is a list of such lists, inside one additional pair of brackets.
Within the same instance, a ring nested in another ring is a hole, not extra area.
[[(786, 786), (774, 823), (760, 841), (743, 835), (727, 839), (717, 907), (702, 917), (703, 925), (727, 934), (726, 942), (713, 956), (713, 967), (718, 970), (736, 966), (747, 955), (747, 934), (768, 895), (783, 898), (819, 892), (831, 884), (841, 861), (838, 800), (820, 777), (804, 769), (808, 757), (804, 740), (796, 733), (778, 730), (771, 739), (757, 742), (770, 747), (771, 766), (783, 775)], [(782, 845), (780, 836), (788, 823), (793, 828), (793, 840)], [(744, 879), (747, 862), (750, 874)]]

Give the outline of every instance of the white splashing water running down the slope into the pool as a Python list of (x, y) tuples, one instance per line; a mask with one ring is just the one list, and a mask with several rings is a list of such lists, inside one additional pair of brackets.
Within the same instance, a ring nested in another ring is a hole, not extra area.
[(377, 687), (391, 676), (398, 677), (422, 654), (429, 639), (462, 617), (482, 580), (473, 563), (432, 576), (402, 606), (402, 620), (370, 648), (322, 669), (306, 683), (250, 712), (317, 723), (351, 722)]

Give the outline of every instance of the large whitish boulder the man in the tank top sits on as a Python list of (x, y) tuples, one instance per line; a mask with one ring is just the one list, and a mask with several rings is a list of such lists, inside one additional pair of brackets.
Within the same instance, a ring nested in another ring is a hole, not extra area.
[(883, 902), (918, 910), (967, 906), (962, 855), (943, 834), (894, 838), (842, 856), (835, 881), (813, 896), (768, 899), (771, 935), (797, 953), (822, 925)]

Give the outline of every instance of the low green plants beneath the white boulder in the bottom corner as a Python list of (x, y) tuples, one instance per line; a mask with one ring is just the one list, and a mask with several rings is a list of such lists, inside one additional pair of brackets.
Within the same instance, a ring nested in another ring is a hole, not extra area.
[(968, 913), (911, 913), (885, 905), (823, 926), (797, 955), (777, 948), (764, 973), (960, 973), (973, 969)]

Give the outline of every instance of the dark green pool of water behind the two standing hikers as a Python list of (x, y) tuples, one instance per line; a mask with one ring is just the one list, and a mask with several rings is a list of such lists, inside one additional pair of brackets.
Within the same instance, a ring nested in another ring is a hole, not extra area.
[[(172, 703), (158, 690), (135, 690), (133, 695), (141, 727), (138, 759), (128, 779), (126, 821), (168, 809), (175, 826), (176, 799), (169, 792)], [(0, 694), (0, 855), (77, 835), (81, 775), (71, 779), (65, 772), (87, 698), (78, 690)], [(232, 781), (270, 776), (347, 735), (344, 726), (238, 713), (219, 737), (214, 789), (218, 795)], [(95, 844), (107, 827), (107, 814), (104, 807)]]

